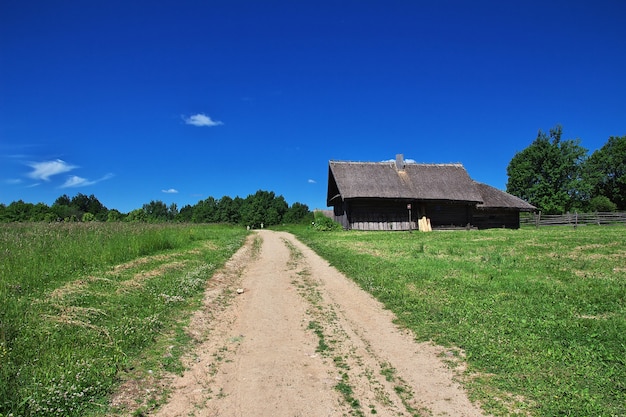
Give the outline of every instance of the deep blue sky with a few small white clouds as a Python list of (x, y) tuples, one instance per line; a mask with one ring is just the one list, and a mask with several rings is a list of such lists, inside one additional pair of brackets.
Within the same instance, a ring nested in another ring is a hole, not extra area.
[(626, 135), (625, 69), (623, 0), (2, 1), (0, 203), (325, 208), (397, 153), (505, 189), (539, 129)]

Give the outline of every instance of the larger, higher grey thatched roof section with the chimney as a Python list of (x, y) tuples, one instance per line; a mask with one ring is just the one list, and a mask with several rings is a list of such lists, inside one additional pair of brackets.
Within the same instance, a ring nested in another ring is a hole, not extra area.
[(327, 203), (336, 199), (391, 198), (482, 202), (478, 188), (461, 164), (330, 161)]

